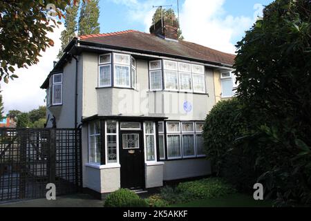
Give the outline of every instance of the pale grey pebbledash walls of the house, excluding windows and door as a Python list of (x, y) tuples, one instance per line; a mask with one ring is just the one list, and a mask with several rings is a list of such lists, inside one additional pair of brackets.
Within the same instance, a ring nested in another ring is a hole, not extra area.
[[(78, 57), (77, 122), (93, 115), (135, 115), (168, 117), (167, 120), (203, 121), (216, 104), (219, 86), (214, 86), (219, 73), (205, 66), (206, 94), (149, 91), (149, 61), (137, 59), (137, 90), (126, 88), (97, 88), (98, 55), (83, 52)], [(187, 61), (186, 61), (187, 62)], [(75, 61), (67, 63), (63, 71), (63, 104), (48, 108), (54, 115), (57, 127), (74, 127)], [(183, 101), (192, 104), (191, 113), (183, 110)], [(171, 112), (157, 113), (158, 103), (171, 106)], [(48, 121), (48, 126), (51, 122)], [(83, 186), (99, 193), (109, 193), (120, 188), (120, 164), (110, 166), (88, 164), (88, 125), (82, 125)], [(145, 163), (146, 188), (162, 186), (163, 181), (209, 175), (210, 162), (205, 158), (168, 160)]]

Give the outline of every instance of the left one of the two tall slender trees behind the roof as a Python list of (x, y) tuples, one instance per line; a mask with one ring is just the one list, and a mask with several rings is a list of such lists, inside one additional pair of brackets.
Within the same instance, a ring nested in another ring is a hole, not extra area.
[(79, 9), (79, 0), (77, 0), (74, 4), (71, 1), (71, 6), (68, 7), (65, 19), (65, 30), (62, 31), (61, 40), (62, 40), (62, 47), (59, 49), (59, 53), (57, 58), (60, 59), (63, 55), (63, 51), (66, 48), (67, 44), (73, 37), (75, 37), (75, 31), (77, 30), (77, 11)]

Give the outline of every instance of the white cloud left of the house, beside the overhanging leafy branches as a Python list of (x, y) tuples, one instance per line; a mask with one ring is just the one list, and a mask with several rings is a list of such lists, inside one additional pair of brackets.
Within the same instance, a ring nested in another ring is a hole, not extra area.
[(19, 78), (9, 81), (8, 84), (0, 82), (4, 114), (12, 109), (30, 111), (38, 108), (39, 105), (45, 105), (46, 92), (40, 86), (53, 68), (53, 61), (61, 47), (59, 37), (62, 30), (64, 30), (64, 26), (59, 26), (59, 28), (55, 28), (54, 32), (48, 33), (48, 37), (53, 39), (55, 45), (47, 48), (46, 52), (41, 52), (42, 57), (39, 57), (38, 64), (30, 66), (28, 69), (15, 70)]

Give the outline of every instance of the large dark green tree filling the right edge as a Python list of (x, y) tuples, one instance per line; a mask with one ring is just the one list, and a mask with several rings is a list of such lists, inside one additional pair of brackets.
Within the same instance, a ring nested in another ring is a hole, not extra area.
[(274, 1), (237, 48), (241, 114), (260, 123), (241, 139), (258, 153), (258, 182), (282, 204), (311, 204), (310, 0)]

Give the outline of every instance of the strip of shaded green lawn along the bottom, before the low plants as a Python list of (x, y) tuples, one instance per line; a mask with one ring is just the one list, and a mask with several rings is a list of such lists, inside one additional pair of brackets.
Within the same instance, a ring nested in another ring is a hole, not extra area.
[(183, 204), (173, 204), (171, 207), (271, 207), (271, 201), (254, 200), (252, 195), (235, 193), (222, 198), (194, 200)]

